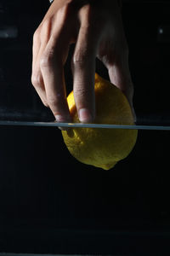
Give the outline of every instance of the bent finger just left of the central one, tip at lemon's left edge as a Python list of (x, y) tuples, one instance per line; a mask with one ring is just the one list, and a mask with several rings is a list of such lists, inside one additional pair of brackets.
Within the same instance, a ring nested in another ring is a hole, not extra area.
[[(69, 46), (62, 44), (62, 48), (68, 52)], [(50, 38), (42, 55), (40, 68), (49, 108), (57, 121), (69, 122), (71, 117), (66, 101), (62, 48), (57, 38)]]

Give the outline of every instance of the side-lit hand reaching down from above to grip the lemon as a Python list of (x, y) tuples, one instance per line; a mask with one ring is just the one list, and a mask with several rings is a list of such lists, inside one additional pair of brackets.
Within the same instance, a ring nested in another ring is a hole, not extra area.
[(72, 58), (73, 90), (82, 122), (93, 121), (95, 115), (96, 56), (107, 67), (111, 82), (132, 105), (127, 42), (117, 1), (54, 0), (34, 34), (31, 81), (57, 121), (71, 121), (64, 77), (70, 44), (76, 44)]

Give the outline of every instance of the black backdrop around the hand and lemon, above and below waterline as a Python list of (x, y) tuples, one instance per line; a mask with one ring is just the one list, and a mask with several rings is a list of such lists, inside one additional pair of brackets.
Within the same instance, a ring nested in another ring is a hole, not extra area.
[[(31, 86), (32, 34), (49, 6), (35, 2), (0, 5), (1, 24), (18, 28), (17, 38), (0, 39), (1, 116), (11, 119), (53, 120)], [(123, 4), (139, 121), (169, 116), (170, 32), (158, 36), (169, 12), (167, 1)], [(69, 63), (65, 73), (69, 91)], [(168, 131), (139, 131), (133, 152), (105, 172), (73, 159), (56, 128), (1, 126), (0, 251), (168, 253), (168, 146)]]

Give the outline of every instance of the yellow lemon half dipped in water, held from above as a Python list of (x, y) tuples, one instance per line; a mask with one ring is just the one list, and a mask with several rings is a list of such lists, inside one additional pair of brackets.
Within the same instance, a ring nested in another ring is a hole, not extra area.
[[(67, 97), (73, 122), (79, 122), (73, 92)], [(126, 96), (115, 85), (95, 74), (96, 118), (94, 123), (133, 125), (133, 113)], [(111, 169), (133, 149), (137, 130), (71, 128), (62, 131), (71, 154), (82, 163)]]

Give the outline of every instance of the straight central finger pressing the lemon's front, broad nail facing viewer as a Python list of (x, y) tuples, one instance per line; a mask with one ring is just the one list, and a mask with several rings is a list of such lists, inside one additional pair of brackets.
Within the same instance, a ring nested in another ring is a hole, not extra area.
[(83, 18), (72, 59), (73, 91), (80, 121), (92, 122), (95, 117), (94, 73), (99, 37), (95, 36), (92, 26), (88, 26), (88, 15), (83, 15)]

